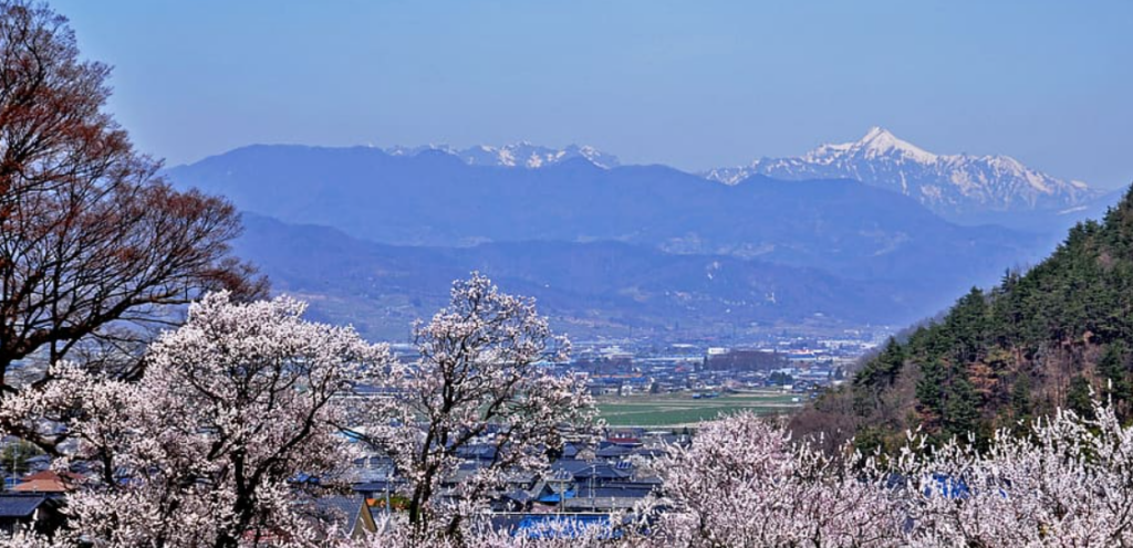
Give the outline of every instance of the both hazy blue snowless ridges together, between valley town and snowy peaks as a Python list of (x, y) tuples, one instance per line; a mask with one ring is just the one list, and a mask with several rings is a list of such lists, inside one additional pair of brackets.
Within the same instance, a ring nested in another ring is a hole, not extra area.
[(525, 169), (441, 149), (257, 145), (168, 175), (278, 220), (249, 223), (240, 254), (278, 289), (308, 294), (314, 314), (373, 333), (403, 333), (429, 309), (404, 308), (409, 296), (440, 302), (428, 296), (474, 268), (591, 332), (902, 323), (1048, 243), (957, 225), (857, 181), (721, 185), (583, 156)]

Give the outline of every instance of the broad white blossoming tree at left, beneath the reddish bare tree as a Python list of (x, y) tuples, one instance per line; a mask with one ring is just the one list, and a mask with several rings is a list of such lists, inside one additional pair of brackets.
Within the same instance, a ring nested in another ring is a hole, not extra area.
[[(58, 380), (2, 401), (11, 420), (51, 419), (79, 440), (96, 481), (67, 500), (75, 534), (96, 547), (262, 546), (310, 540), (298, 474), (350, 462), (340, 396), (385, 346), (349, 327), (305, 322), (288, 298), (194, 303), (151, 348), (140, 380), (60, 363)], [(78, 409), (69, 418), (57, 409)]]

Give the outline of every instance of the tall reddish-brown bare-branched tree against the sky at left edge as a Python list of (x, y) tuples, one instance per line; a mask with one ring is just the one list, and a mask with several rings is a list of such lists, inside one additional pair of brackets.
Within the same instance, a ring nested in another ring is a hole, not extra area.
[(65, 17), (0, 0), (0, 394), (50, 383), (12, 380), (29, 357), (136, 341), (211, 289), (266, 290), (229, 255), (232, 205), (172, 189), (104, 111), (109, 74)]

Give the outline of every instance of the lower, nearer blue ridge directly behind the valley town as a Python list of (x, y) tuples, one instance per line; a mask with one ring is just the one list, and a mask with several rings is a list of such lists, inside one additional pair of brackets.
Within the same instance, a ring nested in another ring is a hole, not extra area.
[(375, 340), (403, 340), (415, 319), (445, 302), (450, 283), (474, 269), (535, 297), (554, 327), (576, 337), (631, 331), (719, 337), (784, 325), (830, 333), (917, 318), (926, 297), (892, 282), (619, 242), (399, 247), (249, 213), (244, 224), (236, 251), (276, 291), (308, 300), (316, 318), (352, 323)]

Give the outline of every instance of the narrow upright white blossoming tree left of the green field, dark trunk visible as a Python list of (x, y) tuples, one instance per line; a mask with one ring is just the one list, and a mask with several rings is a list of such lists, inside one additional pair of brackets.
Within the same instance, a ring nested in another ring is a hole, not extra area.
[[(477, 273), (453, 283), (449, 307), (418, 324), (414, 339), (419, 361), (395, 373), (398, 396), (375, 401), (364, 430), (407, 478), (415, 530), (457, 536), (505, 473), (545, 466), (560, 428), (591, 420), (593, 400), (583, 377), (546, 367), (570, 346), (535, 302)], [(491, 448), (489, 461), (440, 497), (442, 480), (474, 444)]]

